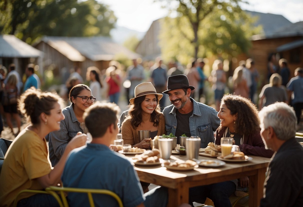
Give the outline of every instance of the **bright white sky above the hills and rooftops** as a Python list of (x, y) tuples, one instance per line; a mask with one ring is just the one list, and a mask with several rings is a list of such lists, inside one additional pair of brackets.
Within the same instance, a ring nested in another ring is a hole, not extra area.
[[(109, 6), (118, 18), (117, 25), (139, 32), (146, 32), (151, 23), (168, 15), (163, 8), (168, 1), (155, 0), (98, 0)], [(261, 13), (281, 14), (292, 23), (303, 21), (303, 0), (247, 0), (243, 10)], [(170, 7), (176, 6), (174, 1)], [(173, 15), (173, 14), (172, 14)]]

